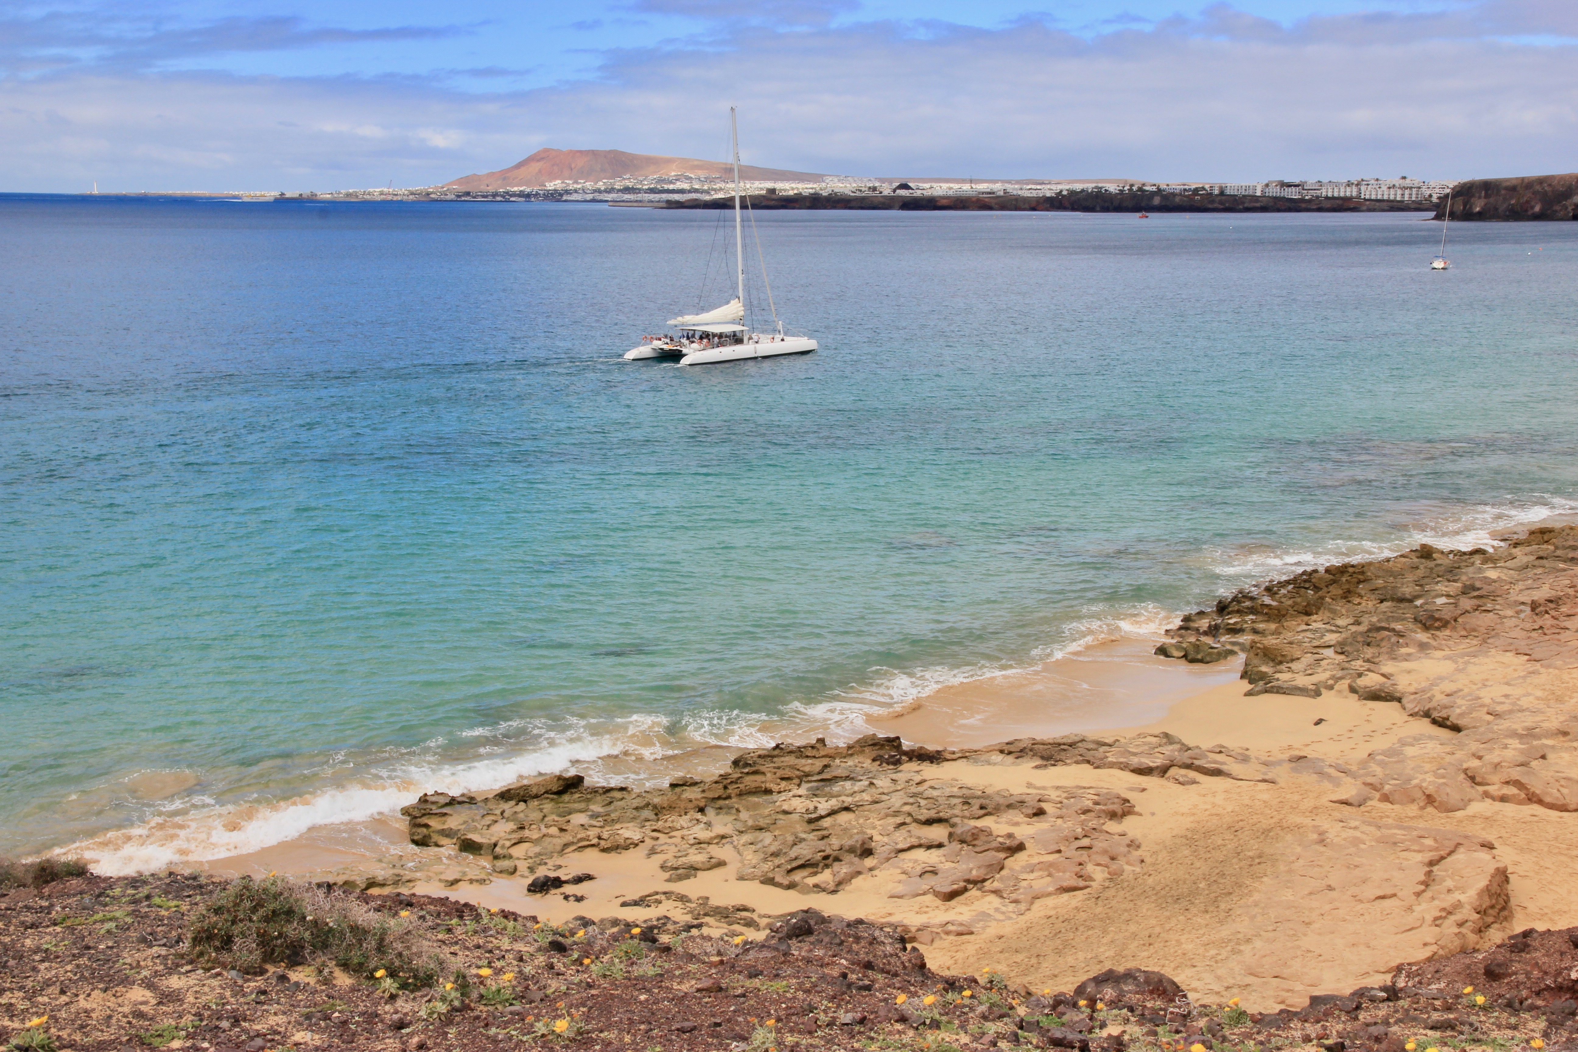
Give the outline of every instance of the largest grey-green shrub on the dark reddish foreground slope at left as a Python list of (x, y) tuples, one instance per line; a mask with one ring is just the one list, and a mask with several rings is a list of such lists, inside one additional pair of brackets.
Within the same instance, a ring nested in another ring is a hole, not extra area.
[(270, 964), (333, 961), (368, 979), (382, 968), (410, 989), (432, 986), (442, 967), (410, 924), (281, 877), (232, 882), (191, 918), (188, 938), (197, 961), (252, 975)]

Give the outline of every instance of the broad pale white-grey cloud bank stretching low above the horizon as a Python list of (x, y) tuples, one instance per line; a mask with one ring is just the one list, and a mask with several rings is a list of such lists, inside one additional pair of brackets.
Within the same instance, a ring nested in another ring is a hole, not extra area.
[(1570, 170), (1578, 47), (1494, 38), (1569, 22), (1565, 5), (1496, 0), (1291, 28), (1218, 5), (1092, 39), (1040, 22), (751, 24), (611, 52), (593, 79), (519, 93), (439, 77), (46, 73), (0, 80), (0, 185), (421, 185), (543, 145), (718, 156), (729, 104), (748, 161), (857, 175)]

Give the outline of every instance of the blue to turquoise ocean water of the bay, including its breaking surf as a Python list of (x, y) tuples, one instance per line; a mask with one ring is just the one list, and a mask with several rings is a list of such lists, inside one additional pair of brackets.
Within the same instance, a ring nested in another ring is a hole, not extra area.
[(822, 350), (620, 361), (718, 219), (0, 197), (0, 853), (852, 735), (1578, 509), (1578, 224), (762, 213)]

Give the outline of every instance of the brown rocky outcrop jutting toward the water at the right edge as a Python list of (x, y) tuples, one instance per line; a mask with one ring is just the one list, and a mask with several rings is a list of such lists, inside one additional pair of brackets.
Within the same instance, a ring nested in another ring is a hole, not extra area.
[[(1368, 800), (1461, 811), (1479, 800), (1578, 811), (1578, 527), (1496, 550), (1430, 544), (1305, 571), (1184, 618), (1168, 658), (1245, 655), (1248, 694), (1348, 691), (1455, 732), (1340, 773)], [(1333, 768), (1335, 770), (1335, 768)]]

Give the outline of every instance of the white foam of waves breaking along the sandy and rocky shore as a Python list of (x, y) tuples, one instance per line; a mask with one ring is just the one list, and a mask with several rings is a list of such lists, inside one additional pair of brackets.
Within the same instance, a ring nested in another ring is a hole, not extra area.
[[(1578, 500), (1535, 497), (1425, 516), (1401, 525), (1389, 539), (1333, 539), (1316, 546), (1207, 552), (1212, 569), (1248, 584), (1255, 579), (1332, 561), (1384, 558), (1420, 543), (1438, 547), (1493, 546), (1493, 536), (1553, 517), (1578, 516)], [(634, 714), (606, 721), (507, 721), (458, 732), (475, 741), (473, 759), (439, 760), (443, 738), (434, 738), (402, 759), (369, 771), (358, 784), (344, 784), (281, 801), (216, 804), (207, 796), (161, 800), (151, 817), (133, 828), (106, 833), (60, 849), (82, 855), (103, 874), (133, 874), (257, 852), (331, 825), (357, 823), (396, 812), (424, 790), (475, 792), (524, 778), (579, 770), (600, 781), (644, 784), (641, 771), (664, 757), (697, 746), (764, 748), (773, 741), (827, 737), (847, 741), (869, 733), (869, 719), (920, 705), (939, 689), (1027, 672), (1092, 645), (1117, 639), (1160, 639), (1177, 623), (1177, 612), (1155, 604), (1128, 610), (1092, 610), (1070, 623), (1059, 639), (1032, 651), (1030, 662), (977, 662), (925, 669), (873, 669), (869, 680), (835, 691), (819, 702), (794, 702), (775, 716), (707, 710), (677, 721)], [(530, 748), (521, 748), (530, 740)], [(551, 744), (544, 744), (544, 741)], [(611, 760), (628, 760), (614, 765)], [(342, 757), (330, 768), (346, 771)], [(353, 770), (353, 768), (350, 768)], [(174, 811), (180, 809), (180, 814)]]

